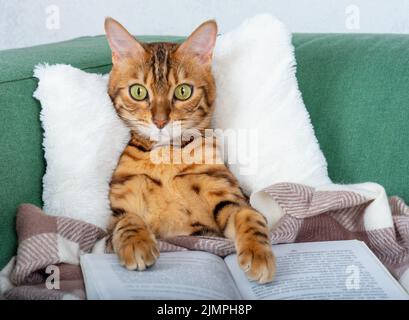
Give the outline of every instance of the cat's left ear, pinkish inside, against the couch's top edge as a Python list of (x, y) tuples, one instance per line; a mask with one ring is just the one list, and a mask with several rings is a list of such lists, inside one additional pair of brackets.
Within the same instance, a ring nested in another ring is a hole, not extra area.
[(145, 52), (142, 45), (116, 20), (105, 19), (105, 33), (112, 50), (112, 63), (122, 59), (141, 57)]

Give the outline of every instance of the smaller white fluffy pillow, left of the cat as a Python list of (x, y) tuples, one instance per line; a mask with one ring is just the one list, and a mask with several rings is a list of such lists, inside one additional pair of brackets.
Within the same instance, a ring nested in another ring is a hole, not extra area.
[(34, 93), (41, 102), (44, 211), (105, 228), (109, 182), (129, 141), (107, 93), (107, 76), (68, 65), (39, 65)]

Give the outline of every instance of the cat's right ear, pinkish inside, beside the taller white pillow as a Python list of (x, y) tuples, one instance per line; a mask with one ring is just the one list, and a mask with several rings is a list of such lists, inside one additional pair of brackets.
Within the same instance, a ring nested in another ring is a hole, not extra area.
[(214, 20), (202, 23), (183, 42), (177, 52), (181, 54), (194, 55), (203, 63), (210, 63), (213, 49), (216, 44), (217, 24)]

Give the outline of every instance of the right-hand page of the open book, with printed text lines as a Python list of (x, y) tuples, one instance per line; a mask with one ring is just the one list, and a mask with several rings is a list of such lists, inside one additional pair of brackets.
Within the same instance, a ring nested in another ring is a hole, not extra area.
[(276, 278), (247, 280), (237, 256), (225, 258), (244, 299), (408, 299), (407, 293), (360, 241), (274, 245)]

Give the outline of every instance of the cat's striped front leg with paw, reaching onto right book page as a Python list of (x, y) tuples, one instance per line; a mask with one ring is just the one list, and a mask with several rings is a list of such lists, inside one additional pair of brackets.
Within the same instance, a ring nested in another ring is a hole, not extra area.
[(226, 202), (218, 212), (224, 221), (224, 234), (234, 239), (240, 267), (250, 280), (271, 282), (275, 274), (275, 257), (268, 238), (264, 217), (251, 207)]

